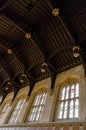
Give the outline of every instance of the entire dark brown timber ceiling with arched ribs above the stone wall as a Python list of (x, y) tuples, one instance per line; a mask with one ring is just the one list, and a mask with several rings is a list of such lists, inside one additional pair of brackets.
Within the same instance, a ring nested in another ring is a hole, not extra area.
[[(53, 16), (54, 8), (59, 8), (58, 16)], [(85, 43), (86, 0), (0, 0), (1, 92), (81, 64), (73, 47), (85, 55)]]

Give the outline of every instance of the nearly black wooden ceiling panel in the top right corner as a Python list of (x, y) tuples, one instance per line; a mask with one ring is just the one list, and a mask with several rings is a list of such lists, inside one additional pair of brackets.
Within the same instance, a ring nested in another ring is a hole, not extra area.
[[(70, 0), (62, 4), (61, 10), (77, 42), (86, 37), (86, 1)], [(71, 7), (71, 8), (69, 8)]]

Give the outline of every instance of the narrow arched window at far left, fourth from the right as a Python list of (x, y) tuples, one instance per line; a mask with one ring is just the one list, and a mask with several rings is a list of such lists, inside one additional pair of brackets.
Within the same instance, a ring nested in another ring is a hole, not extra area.
[(0, 123), (2, 123), (3, 117), (6, 115), (6, 112), (8, 111), (9, 108), (10, 108), (10, 102), (5, 102), (0, 112)]

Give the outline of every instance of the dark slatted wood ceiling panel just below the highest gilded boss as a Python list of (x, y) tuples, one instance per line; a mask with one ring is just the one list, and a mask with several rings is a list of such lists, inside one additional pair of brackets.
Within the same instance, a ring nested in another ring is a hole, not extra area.
[(57, 24), (57, 26), (54, 26), (54, 24), (49, 21), (43, 25), (40, 25), (39, 30), (37, 30), (40, 45), (43, 47), (45, 55), (48, 59), (50, 59), (54, 53), (58, 53), (60, 48), (63, 46), (66, 45), (69, 47), (74, 45), (74, 39), (67, 27), (63, 24), (62, 19), (57, 17), (57, 21), (58, 22), (54, 23)]

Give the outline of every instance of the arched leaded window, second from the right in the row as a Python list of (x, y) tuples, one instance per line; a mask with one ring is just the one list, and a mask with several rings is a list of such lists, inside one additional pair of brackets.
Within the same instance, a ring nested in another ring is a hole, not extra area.
[(39, 91), (36, 93), (27, 121), (38, 121), (41, 118), (47, 93)]

